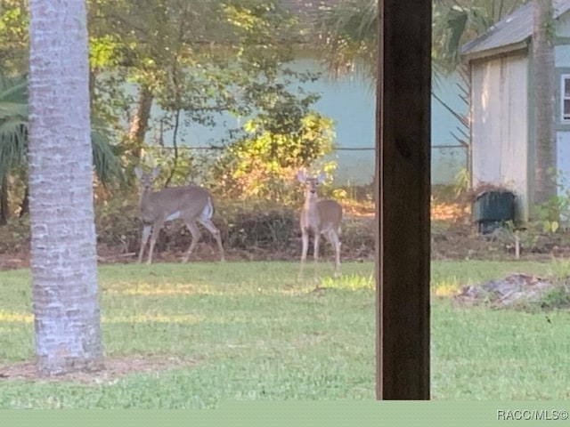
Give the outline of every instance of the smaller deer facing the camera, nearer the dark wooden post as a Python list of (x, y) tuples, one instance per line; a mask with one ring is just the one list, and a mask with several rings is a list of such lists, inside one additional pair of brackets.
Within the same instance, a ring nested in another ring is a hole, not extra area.
[(335, 200), (322, 199), (317, 189), (325, 181), (325, 174), (307, 176), (304, 170), (297, 172), (297, 180), (305, 185), (305, 204), (301, 208), (299, 224), (301, 226), (301, 265), (299, 278), (303, 277), (306, 253), (309, 248), (309, 234), (314, 236), (314, 265), (319, 261), (319, 244), (323, 234), (335, 250), (335, 277), (340, 270), (340, 222), (342, 206)]

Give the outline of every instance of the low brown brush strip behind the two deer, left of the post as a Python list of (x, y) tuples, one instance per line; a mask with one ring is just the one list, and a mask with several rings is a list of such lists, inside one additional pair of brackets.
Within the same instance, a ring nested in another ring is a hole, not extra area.
[[(300, 204), (299, 204), (300, 205)], [(269, 201), (215, 200), (213, 222), (222, 234), (229, 258), (248, 260), (297, 260), (300, 256), (300, 206), (281, 205)], [(374, 222), (370, 218), (347, 217), (342, 223), (343, 260), (373, 259)], [(138, 197), (134, 191), (125, 192), (109, 201), (97, 201), (95, 228), (101, 254), (137, 254), (140, 246), (142, 222), (139, 220)], [(20, 254), (29, 250), (29, 221), (13, 219), (0, 227), (0, 253)], [(322, 255), (332, 249), (322, 239)], [(190, 245), (190, 232), (183, 222), (167, 222), (160, 231), (155, 254), (164, 251), (183, 252)], [(211, 247), (209, 254), (204, 247)], [(312, 243), (309, 256), (312, 256)], [(104, 253), (102, 252), (104, 251)], [(195, 256), (198, 259), (217, 259), (216, 244), (210, 233), (203, 230)], [(103, 256), (105, 258), (105, 256)], [(127, 258), (124, 258), (125, 261)]]

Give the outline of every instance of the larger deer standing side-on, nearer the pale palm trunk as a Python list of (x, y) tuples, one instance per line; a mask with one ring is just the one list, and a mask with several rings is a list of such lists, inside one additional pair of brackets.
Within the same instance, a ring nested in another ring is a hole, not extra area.
[(152, 183), (159, 175), (157, 166), (152, 168), (151, 173), (142, 173), (142, 170), (136, 167), (134, 168), (134, 174), (141, 183), (139, 209), (142, 220), (142, 236), (138, 262), (142, 262), (142, 254), (149, 237), (151, 237), (151, 244), (147, 264), (152, 262), (152, 251), (159, 237), (160, 230), (165, 222), (175, 220), (176, 218), (183, 220), (188, 230), (190, 230), (192, 238), (188, 251), (183, 257), (183, 262), (188, 262), (192, 251), (199, 241), (200, 232), (196, 222), (202, 224), (212, 233), (220, 252), (220, 261), (224, 262), (224, 246), (222, 246), (220, 230), (211, 221), (214, 214), (214, 205), (207, 189), (189, 185), (185, 187), (167, 187), (159, 191), (152, 191)]

